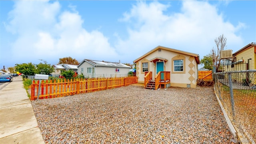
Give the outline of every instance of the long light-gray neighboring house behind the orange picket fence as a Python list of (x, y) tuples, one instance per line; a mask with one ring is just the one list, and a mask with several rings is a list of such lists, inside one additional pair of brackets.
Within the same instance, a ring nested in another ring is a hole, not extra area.
[(78, 67), (78, 74), (83, 74), (86, 78), (99, 77), (125, 77), (128, 76), (130, 66), (117, 62), (104, 62), (84, 59)]

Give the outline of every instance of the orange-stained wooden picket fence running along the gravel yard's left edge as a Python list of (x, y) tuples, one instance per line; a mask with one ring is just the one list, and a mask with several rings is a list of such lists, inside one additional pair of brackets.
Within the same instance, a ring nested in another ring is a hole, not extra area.
[(39, 99), (58, 98), (62, 96), (71, 96), (86, 92), (106, 90), (128, 86), (138, 82), (137, 76), (120, 77), (120, 78), (81, 78), (71, 80), (42, 80), (39, 88), (39, 80), (32, 81), (31, 100), (36, 100), (40, 90)]

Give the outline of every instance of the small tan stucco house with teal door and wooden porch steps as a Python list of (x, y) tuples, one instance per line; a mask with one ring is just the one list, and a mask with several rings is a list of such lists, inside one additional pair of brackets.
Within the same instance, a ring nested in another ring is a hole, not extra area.
[[(144, 83), (145, 88), (150, 81), (158, 83), (155, 89), (161, 84), (164, 87), (196, 88), (200, 64), (198, 54), (157, 46), (133, 62), (136, 64), (138, 83)], [(148, 78), (148, 75), (152, 75), (152, 78)]]

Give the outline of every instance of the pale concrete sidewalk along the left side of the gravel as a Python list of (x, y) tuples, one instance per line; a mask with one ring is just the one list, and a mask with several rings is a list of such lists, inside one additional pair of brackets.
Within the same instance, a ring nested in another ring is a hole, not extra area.
[(21, 76), (0, 85), (0, 144), (44, 144)]

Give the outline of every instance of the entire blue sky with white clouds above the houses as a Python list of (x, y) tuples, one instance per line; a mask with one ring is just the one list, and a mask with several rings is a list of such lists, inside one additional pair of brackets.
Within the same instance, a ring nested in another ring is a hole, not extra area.
[[(157, 46), (200, 55), (256, 42), (256, 1), (0, 1), (0, 69), (72, 57), (133, 60)], [(200, 67), (200, 66), (199, 66)]]

